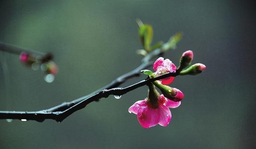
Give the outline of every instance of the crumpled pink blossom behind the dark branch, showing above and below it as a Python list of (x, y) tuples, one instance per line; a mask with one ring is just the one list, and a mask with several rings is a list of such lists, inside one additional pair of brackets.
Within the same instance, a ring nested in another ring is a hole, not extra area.
[[(156, 75), (163, 75), (168, 72), (176, 72), (176, 66), (172, 63), (171, 60), (165, 59), (163, 57), (159, 57), (153, 65), (153, 69), (156, 71)], [(174, 77), (168, 77), (161, 79), (161, 83), (164, 85), (168, 85), (172, 83)]]

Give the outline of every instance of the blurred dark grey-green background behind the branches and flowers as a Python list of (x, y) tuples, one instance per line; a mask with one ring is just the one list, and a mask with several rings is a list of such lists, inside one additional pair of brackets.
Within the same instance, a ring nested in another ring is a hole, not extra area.
[(0, 41), (51, 52), (59, 73), (47, 83), (42, 71), (0, 51), (0, 110), (48, 109), (139, 66), (136, 18), (153, 26), (153, 44), (183, 32), (164, 58), (178, 66), (192, 50), (192, 64), (207, 69), (170, 85), (185, 96), (167, 127), (144, 129), (128, 112), (147, 96), (144, 86), (90, 103), (61, 123), (0, 120), (0, 148), (256, 148), (254, 8), (250, 1), (1, 1)]

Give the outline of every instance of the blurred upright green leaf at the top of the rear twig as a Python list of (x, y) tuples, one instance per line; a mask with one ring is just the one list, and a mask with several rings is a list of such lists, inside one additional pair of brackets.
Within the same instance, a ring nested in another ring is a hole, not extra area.
[(153, 39), (153, 28), (151, 25), (140, 25), (139, 29), (140, 42), (147, 52), (150, 52), (150, 45)]

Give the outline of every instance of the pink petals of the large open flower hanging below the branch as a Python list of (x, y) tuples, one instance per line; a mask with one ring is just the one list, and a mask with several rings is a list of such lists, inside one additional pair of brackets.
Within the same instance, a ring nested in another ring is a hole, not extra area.
[(128, 111), (137, 114), (138, 121), (144, 128), (149, 128), (157, 124), (167, 126), (172, 118), (169, 108), (178, 107), (180, 102), (173, 102), (165, 98), (164, 95), (160, 95), (157, 103), (157, 108), (153, 108), (148, 98), (145, 98), (145, 100), (134, 103)]

